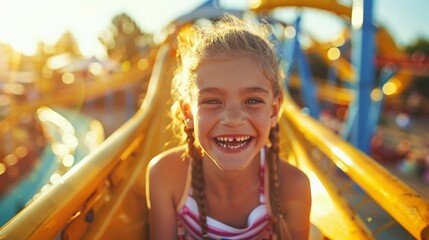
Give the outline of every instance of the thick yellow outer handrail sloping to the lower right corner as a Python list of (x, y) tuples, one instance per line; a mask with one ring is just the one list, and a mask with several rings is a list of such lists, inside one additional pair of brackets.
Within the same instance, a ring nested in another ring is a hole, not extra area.
[(319, 122), (286, 101), (285, 115), (310, 144), (370, 195), (416, 239), (429, 238), (429, 200), (390, 174), (363, 152), (339, 138)]

